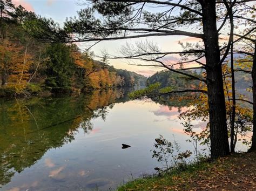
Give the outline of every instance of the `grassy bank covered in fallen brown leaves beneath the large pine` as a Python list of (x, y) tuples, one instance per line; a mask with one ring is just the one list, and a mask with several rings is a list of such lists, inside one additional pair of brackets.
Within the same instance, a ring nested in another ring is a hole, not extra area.
[(256, 189), (256, 153), (232, 154), (126, 183), (118, 190)]

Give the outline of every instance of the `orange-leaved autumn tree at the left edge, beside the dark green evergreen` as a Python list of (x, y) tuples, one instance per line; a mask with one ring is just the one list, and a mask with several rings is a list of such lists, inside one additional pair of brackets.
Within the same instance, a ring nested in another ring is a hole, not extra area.
[(28, 95), (25, 89), (36, 76), (43, 60), (39, 52), (44, 49), (22, 27), (26, 19), (35, 18), (35, 13), (26, 11), (21, 5), (15, 7), (11, 1), (1, 1), (1, 13), (2, 88), (5, 93), (14, 91), (15, 95)]

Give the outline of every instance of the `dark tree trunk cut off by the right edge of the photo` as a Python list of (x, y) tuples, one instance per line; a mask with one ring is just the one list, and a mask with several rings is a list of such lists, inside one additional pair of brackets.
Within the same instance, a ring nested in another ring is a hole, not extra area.
[(253, 133), (252, 146), (249, 152), (256, 151), (256, 41), (254, 42), (254, 56), (252, 64), (252, 95), (253, 95)]

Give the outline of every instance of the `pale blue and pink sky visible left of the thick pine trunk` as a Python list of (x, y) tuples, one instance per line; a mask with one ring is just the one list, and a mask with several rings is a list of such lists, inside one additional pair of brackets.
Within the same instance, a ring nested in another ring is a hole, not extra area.
[[(29, 11), (34, 11), (38, 15), (44, 16), (46, 18), (52, 18), (58, 23), (62, 24), (66, 17), (72, 17), (77, 15), (77, 11), (83, 9), (85, 6), (78, 5), (79, 2), (85, 0), (12, 0), (15, 5), (21, 4), (25, 9)], [(131, 40), (118, 40), (118, 41), (105, 41), (97, 44), (91, 50), (95, 52), (96, 55), (100, 55), (102, 51), (106, 51), (109, 54), (117, 54), (120, 47), (126, 42), (134, 43), (144, 40), (149, 40), (150, 42), (157, 43), (157, 45), (163, 51), (178, 51), (181, 50), (181, 46), (178, 45), (178, 41), (189, 41), (197, 42), (197, 39), (181, 37), (181, 36), (169, 36), (169, 37), (147, 37), (141, 39), (131, 39)], [(78, 44), (83, 47), (83, 44)], [(97, 59), (97, 58), (95, 58)], [(176, 60), (175, 57), (169, 57), (167, 59)], [(161, 68), (149, 67), (149, 66), (134, 66), (130, 64), (140, 64), (139, 62), (132, 62), (131, 60), (125, 59), (113, 59), (110, 63), (118, 69), (126, 69), (134, 71), (144, 76), (151, 76), (156, 71), (161, 70)], [(130, 64), (129, 64), (130, 63)]]

